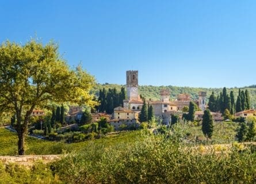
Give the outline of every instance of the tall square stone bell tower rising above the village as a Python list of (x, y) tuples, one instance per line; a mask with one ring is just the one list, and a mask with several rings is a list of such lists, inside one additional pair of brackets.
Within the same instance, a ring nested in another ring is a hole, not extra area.
[(129, 70), (126, 72), (126, 87), (128, 100), (138, 100), (138, 71)]

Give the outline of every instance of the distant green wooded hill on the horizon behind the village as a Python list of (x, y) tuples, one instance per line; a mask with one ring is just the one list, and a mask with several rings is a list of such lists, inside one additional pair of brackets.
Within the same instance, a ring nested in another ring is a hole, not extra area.
[[(100, 89), (103, 89), (105, 87), (106, 90), (109, 88), (114, 88), (118, 91), (121, 90), (121, 87), (125, 87), (125, 85), (114, 85), (114, 84), (98, 84), (97, 86), (94, 87), (93, 93), (98, 96), (98, 93)], [(198, 87), (177, 87), (177, 86), (139, 86), (139, 94), (142, 94), (143, 97), (146, 97), (147, 99), (159, 99), (160, 98), (160, 90), (161, 89), (169, 89), (170, 90), (170, 98), (171, 99), (176, 99), (178, 94), (181, 93), (188, 93), (191, 95), (192, 99), (197, 99), (198, 98), (198, 92), (199, 91), (206, 91), (207, 92), (207, 97), (212, 94), (212, 91), (214, 91), (215, 95), (219, 94), (223, 89), (222, 88), (198, 88)], [(256, 85), (248, 86), (248, 87), (241, 87), (241, 90), (248, 90), (250, 93), (251, 97), (251, 104), (256, 107)], [(238, 87), (232, 87), (232, 88), (227, 88), (227, 92), (230, 93), (230, 91), (234, 91), (235, 93), (235, 98), (238, 96)]]

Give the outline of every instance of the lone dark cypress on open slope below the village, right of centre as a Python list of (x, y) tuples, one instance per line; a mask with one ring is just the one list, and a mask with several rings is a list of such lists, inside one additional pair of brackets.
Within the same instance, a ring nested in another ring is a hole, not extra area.
[(213, 132), (212, 114), (207, 109), (204, 111), (204, 115), (202, 116), (202, 133), (204, 133), (204, 136), (211, 139), (212, 132)]

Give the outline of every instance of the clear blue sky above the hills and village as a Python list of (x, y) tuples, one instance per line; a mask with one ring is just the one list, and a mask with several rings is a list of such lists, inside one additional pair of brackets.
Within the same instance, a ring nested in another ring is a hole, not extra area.
[(1, 1), (0, 42), (55, 40), (99, 83), (256, 83), (256, 1)]

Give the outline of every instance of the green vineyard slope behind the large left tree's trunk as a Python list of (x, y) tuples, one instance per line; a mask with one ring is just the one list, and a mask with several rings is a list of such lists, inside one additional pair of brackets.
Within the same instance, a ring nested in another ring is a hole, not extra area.
[[(72, 151), (78, 151), (87, 147), (88, 144), (116, 144), (120, 139), (124, 142), (130, 142), (137, 139), (137, 132), (124, 132), (117, 135), (110, 135), (102, 139), (83, 141), (80, 143), (67, 144), (63, 141), (47, 141), (39, 140), (34, 137), (27, 136), (25, 139), (25, 154), (26, 155), (52, 155), (64, 154)], [(0, 128), (0, 155), (13, 156), (17, 155), (18, 148), (17, 133), (10, 132), (5, 128)]]

